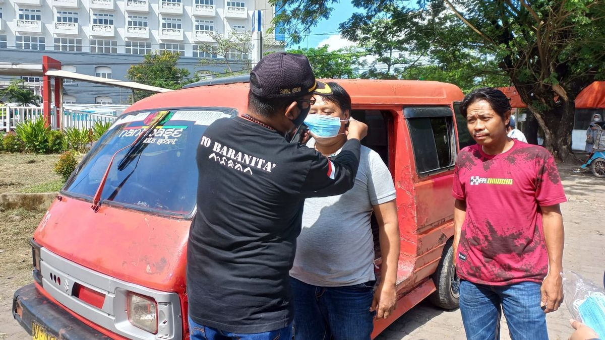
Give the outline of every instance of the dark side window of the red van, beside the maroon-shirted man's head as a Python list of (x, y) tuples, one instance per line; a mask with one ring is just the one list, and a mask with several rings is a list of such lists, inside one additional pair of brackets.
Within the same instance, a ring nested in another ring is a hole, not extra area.
[(419, 175), (454, 168), (456, 139), (450, 108), (405, 108)]

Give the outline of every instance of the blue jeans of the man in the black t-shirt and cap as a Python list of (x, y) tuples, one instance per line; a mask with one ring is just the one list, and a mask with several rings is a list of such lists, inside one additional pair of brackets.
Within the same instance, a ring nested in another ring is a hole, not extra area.
[(196, 324), (189, 318), (189, 339), (191, 340), (292, 340), (292, 324), (283, 329), (263, 333), (232, 333)]

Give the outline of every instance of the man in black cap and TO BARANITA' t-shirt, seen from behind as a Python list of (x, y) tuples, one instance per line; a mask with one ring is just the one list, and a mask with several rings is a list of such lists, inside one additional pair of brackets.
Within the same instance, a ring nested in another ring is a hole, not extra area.
[(367, 125), (351, 120), (333, 160), (289, 143), (313, 93), (331, 90), (315, 80), (305, 56), (269, 54), (250, 73), (247, 112), (204, 132), (187, 247), (191, 339), (291, 336), (289, 270), (304, 199), (353, 187), (367, 133)]

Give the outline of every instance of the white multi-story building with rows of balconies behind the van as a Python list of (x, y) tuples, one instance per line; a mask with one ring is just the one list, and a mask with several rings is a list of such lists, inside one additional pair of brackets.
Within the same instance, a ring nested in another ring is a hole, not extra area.
[[(144, 54), (169, 50), (181, 54), (178, 66), (191, 76), (220, 73), (224, 60), (200, 44), (214, 43), (210, 33), (249, 32), (254, 10), (263, 11), (265, 47), (283, 50), (283, 34), (266, 33), (275, 13), (267, 0), (0, 0), (0, 62), (41, 63), (48, 55), (64, 70), (125, 79)], [(227, 54), (234, 60), (248, 57), (237, 50)], [(216, 61), (201, 67), (202, 58)], [(0, 81), (7, 80), (0, 74)], [(127, 103), (129, 95), (80, 82), (66, 81), (64, 88), (65, 102)]]

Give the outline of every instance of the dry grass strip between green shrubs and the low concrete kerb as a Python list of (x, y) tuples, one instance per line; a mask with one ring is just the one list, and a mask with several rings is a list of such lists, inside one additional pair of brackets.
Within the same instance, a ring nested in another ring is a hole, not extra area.
[(0, 194), (27, 191), (30, 186), (60, 181), (53, 171), (59, 155), (0, 154)]

